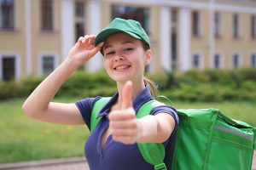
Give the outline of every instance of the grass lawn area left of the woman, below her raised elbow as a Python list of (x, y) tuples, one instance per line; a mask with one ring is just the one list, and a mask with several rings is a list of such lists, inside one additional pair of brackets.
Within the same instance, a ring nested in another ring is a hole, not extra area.
[(33, 120), (22, 113), (23, 102), (0, 103), (0, 163), (84, 155), (87, 127)]

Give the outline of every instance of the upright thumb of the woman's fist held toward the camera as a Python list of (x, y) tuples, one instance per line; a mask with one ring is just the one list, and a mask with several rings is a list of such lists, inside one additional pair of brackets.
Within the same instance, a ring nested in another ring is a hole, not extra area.
[(132, 106), (131, 100), (131, 93), (132, 93), (132, 82), (128, 81), (125, 83), (122, 93), (122, 101), (121, 101), (121, 109), (128, 109)]

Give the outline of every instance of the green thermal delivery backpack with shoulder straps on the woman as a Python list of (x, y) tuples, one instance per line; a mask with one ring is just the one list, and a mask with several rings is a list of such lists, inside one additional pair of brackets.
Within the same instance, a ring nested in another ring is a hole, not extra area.
[[(93, 105), (90, 131), (100, 121), (98, 113), (110, 98), (102, 98)], [(165, 105), (153, 99), (137, 112), (137, 118), (147, 116), (158, 106)], [(179, 124), (172, 158), (172, 170), (251, 170), (253, 150), (256, 149), (256, 128), (246, 122), (232, 120), (217, 109), (177, 110)], [(137, 143), (149, 164), (155, 170), (165, 170), (163, 144)]]

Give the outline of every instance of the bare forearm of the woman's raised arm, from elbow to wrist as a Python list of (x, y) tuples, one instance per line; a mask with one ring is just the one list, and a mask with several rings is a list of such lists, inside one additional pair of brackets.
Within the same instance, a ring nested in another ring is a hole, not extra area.
[(44, 111), (62, 83), (72, 75), (77, 67), (71, 59), (66, 59), (59, 65), (26, 99), (26, 102), (22, 106), (26, 114), (32, 115)]

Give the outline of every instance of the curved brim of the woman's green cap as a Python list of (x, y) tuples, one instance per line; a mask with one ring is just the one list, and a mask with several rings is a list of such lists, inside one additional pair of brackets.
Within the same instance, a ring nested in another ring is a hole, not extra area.
[(94, 41), (94, 45), (96, 46), (100, 42), (105, 42), (108, 36), (112, 35), (113, 33), (116, 32), (125, 32), (126, 34), (130, 35), (131, 37), (137, 38), (137, 39), (142, 39), (141, 37), (137, 36), (137, 34), (131, 32), (131, 31), (124, 31), (116, 28), (108, 28), (106, 30), (101, 31), (97, 36)]

